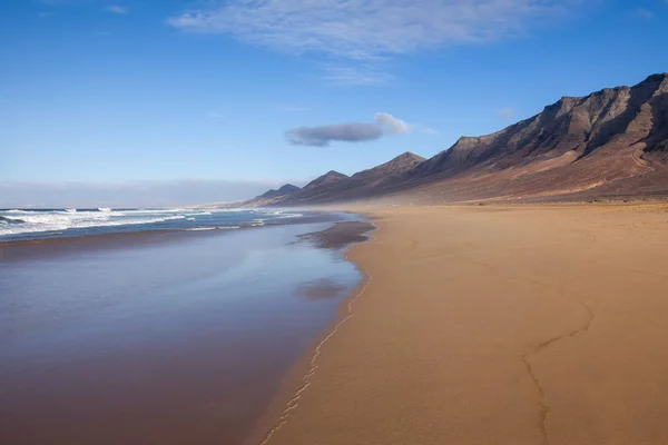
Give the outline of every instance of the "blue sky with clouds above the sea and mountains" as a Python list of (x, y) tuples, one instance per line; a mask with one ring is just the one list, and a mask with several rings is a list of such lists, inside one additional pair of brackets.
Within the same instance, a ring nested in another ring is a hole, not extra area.
[(2, 0), (0, 38), (0, 207), (225, 201), (668, 71), (668, 0)]

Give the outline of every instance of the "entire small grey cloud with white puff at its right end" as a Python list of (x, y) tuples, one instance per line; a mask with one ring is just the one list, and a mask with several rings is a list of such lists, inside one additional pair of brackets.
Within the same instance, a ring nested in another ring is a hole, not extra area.
[(404, 135), (414, 126), (387, 112), (376, 112), (373, 122), (331, 123), (317, 127), (298, 127), (286, 132), (287, 140), (297, 146), (328, 147), (333, 141), (364, 142), (383, 135)]

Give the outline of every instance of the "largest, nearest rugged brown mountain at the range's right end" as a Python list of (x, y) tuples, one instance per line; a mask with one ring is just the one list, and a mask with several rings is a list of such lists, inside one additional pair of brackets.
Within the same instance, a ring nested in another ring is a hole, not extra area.
[(655, 75), (632, 88), (562, 98), (499, 132), (461, 138), (419, 166), (415, 175), (429, 178), (431, 185), (422, 190), (426, 194), (435, 185), (456, 188), (449, 196), (453, 200), (613, 189), (632, 195), (649, 190), (625, 182), (645, 175), (654, 177), (656, 190), (668, 186), (662, 179), (667, 113), (668, 75)]

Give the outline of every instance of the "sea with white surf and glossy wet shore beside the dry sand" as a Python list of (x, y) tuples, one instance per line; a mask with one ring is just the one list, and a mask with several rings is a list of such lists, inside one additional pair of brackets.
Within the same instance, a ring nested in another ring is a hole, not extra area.
[(363, 278), (345, 246), (304, 237), (360, 219), (348, 214), (1, 215), (12, 445), (242, 444)]

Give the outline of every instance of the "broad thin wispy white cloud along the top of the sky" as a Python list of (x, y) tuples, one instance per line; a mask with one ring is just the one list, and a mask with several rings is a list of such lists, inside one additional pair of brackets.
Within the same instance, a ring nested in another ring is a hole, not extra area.
[(553, 20), (584, 0), (227, 0), (173, 17), (292, 53), (377, 61), (446, 44), (493, 41)]

